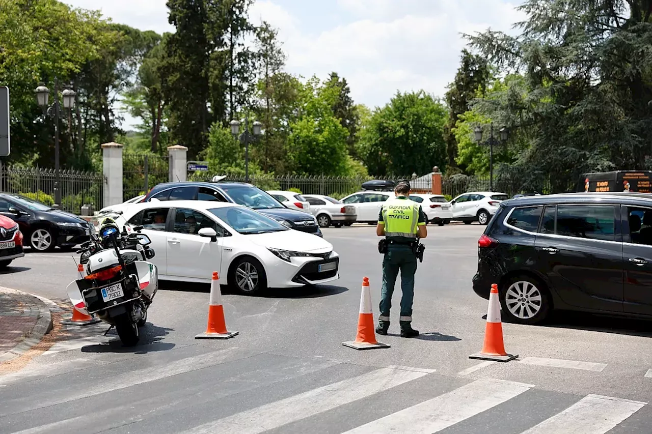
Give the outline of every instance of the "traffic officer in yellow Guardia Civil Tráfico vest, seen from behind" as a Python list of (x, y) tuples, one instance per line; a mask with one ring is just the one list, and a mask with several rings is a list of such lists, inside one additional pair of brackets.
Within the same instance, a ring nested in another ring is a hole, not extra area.
[(426, 238), (426, 216), (421, 205), (409, 199), (410, 184), (406, 180), (398, 181), (394, 188), (394, 199), (383, 203), (378, 216), (376, 235), (385, 237), (387, 250), (383, 257), (383, 287), (381, 290), (380, 316), (378, 317), (378, 334), (386, 335), (389, 328), (389, 310), (392, 307), (394, 284), (401, 273), (401, 315), (400, 326), (403, 338), (419, 336), (411, 326), (412, 300), (414, 298), (414, 274), (417, 271), (415, 244)]

